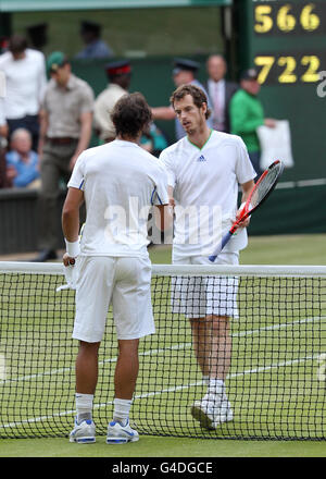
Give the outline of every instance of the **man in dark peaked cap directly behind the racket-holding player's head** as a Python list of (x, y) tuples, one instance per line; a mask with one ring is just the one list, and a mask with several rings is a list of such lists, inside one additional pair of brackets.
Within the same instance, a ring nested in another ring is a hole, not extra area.
[[(201, 88), (206, 97), (209, 98), (209, 95), (203, 87), (203, 85), (196, 79), (196, 73), (199, 69), (200, 64), (187, 59), (175, 59), (174, 60), (174, 69), (173, 69), (173, 81), (175, 83), (175, 86), (181, 86), (181, 85), (196, 85), (199, 88)], [(209, 108), (212, 109), (212, 106), (209, 101)], [(175, 136), (176, 140), (179, 140), (184, 136), (186, 136), (186, 132), (183, 128), (180, 122), (176, 118), (175, 111), (170, 107), (158, 107), (152, 108), (152, 115), (154, 120), (174, 120), (175, 119)], [(213, 127), (213, 123), (211, 119), (208, 119), (208, 125), (209, 127)]]

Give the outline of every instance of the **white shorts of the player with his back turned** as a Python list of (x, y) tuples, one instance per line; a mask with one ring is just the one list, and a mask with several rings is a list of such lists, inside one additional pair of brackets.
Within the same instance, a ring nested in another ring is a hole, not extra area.
[(74, 339), (100, 342), (110, 304), (118, 340), (155, 332), (149, 258), (82, 256), (76, 267)]

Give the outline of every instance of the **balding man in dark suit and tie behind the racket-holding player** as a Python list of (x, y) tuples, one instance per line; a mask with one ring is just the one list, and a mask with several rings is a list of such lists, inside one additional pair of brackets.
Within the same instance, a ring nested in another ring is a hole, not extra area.
[(225, 79), (227, 65), (222, 54), (211, 54), (206, 62), (208, 93), (212, 103), (213, 128), (229, 133), (229, 102), (239, 86)]

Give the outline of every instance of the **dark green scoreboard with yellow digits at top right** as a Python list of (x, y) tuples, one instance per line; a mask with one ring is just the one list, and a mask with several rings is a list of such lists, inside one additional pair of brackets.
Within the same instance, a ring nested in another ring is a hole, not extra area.
[(290, 122), (284, 179), (326, 179), (326, 0), (239, 3), (241, 66), (259, 71), (265, 115)]

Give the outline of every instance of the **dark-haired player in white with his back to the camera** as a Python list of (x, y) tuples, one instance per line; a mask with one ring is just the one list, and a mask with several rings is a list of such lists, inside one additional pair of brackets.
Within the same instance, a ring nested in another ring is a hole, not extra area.
[[(62, 213), (66, 241), (63, 261), (68, 267), (76, 260), (77, 268), (73, 337), (79, 340), (80, 346), (76, 359), (77, 416), (70, 440), (79, 443), (96, 441), (91, 412), (98, 349), (111, 303), (118, 358), (114, 413), (106, 442), (139, 439), (129, 425), (138, 374), (138, 343), (140, 337), (154, 333), (147, 219), (151, 205), (156, 205), (160, 213), (168, 214), (170, 209), (165, 167), (138, 146), (151, 121), (142, 95), (123, 96), (112, 120), (116, 139), (79, 156)], [(79, 207), (84, 200), (87, 218), (79, 245)]]

